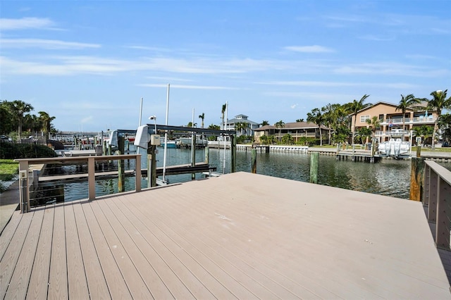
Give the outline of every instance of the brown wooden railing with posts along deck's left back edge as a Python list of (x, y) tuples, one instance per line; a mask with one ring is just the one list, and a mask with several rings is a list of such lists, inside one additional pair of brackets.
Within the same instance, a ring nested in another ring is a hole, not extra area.
[[(135, 192), (141, 191), (141, 154), (126, 154), (126, 155), (110, 155), (110, 156), (77, 156), (77, 157), (53, 157), (53, 158), (23, 158), (16, 159), (19, 162), (19, 183), (20, 183), (20, 211), (27, 213), (30, 211), (30, 186), (33, 182), (29, 182), (32, 178), (33, 172), (30, 171), (30, 165), (49, 164), (49, 163), (84, 163), (87, 164), (87, 182), (88, 182), (88, 200), (96, 198), (95, 189), (95, 163), (96, 161), (121, 161), (135, 160)], [(118, 178), (121, 178), (121, 173), (124, 170), (119, 168), (117, 171)], [(36, 180), (36, 178), (35, 178)]]

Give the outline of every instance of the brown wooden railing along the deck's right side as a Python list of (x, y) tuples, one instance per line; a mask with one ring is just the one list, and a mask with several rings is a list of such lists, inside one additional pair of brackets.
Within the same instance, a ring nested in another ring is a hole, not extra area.
[(435, 223), (435, 245), (450, 251), (451, 172), (434, 161), (424, 162), (423, 205)]

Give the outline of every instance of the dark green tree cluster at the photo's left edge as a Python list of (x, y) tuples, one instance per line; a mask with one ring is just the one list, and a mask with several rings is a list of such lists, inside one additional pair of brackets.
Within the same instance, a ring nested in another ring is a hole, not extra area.
[(24, 136), (40, 134), (47, 141), (49, 134), (57, 132), (51, 122), (55, 119), (46, 111), (38, 115), (31, 104), (21, 100), (0, 100), (0, 135), (5, 135), (20, 141)]

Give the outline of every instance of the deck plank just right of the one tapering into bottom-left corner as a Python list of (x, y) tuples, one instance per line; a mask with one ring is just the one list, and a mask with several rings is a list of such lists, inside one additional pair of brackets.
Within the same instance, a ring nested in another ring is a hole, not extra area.
[(8, 287), (8, 291), (6, 291), (6, 299), (25, 299), (33, 261), (35, 261), (37, 242), (39, 241), (39, 232), (41, 231), (43, 218), (44, 210), (35, 210), (27, 237), (25, 238), (22, 249), (20, 249), (18, 262), (11, 277), (11, 284)]

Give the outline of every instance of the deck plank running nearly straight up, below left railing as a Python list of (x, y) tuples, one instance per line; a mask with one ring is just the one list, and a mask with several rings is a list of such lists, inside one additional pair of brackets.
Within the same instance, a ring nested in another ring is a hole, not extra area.
[(54, 233), (51, 240), (51, 261), (48, 299), (68, 299), (68, 269), (64, 205), (54, 206)]

